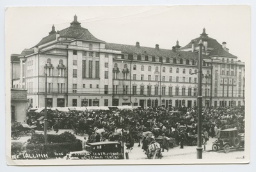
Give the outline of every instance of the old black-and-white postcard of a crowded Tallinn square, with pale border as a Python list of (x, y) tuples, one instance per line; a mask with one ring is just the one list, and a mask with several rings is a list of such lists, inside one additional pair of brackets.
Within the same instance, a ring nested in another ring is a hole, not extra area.
[(250, 6), (6, 7), (6, 162), (250, 162)]

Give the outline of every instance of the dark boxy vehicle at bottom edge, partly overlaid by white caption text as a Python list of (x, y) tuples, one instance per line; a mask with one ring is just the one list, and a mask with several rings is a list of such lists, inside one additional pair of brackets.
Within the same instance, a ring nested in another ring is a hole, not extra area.
[(117, 141), (86, 143), (85, 150), (70, 152), (66, 159), (124, 159), (123, 147)]

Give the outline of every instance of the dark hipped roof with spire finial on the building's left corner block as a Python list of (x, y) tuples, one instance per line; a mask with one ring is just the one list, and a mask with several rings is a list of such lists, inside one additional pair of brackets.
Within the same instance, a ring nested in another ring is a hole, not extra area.
[(73, 38), (73, 39), (84, 39), (88, 41), (98, 41), (104, 43), (104, 41), (95, 38), (88, 29), (81, 27), (81, 23), (77, 22), (76, 15), (74, 16), (74, 21), (70, 23), (70, 27), (63, 29), (61, 31), (51, 31), (48, 36), (42, 38), (42, 40), (36, 45), (40, 46), (50, 41), (54, 41), (56, 39), (56, 34), (60, 34), (60, 37), (64, 38)]

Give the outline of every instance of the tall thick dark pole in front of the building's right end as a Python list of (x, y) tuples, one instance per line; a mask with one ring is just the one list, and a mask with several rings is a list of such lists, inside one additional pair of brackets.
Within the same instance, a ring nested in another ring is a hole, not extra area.
[(197, 147), (196, 155), (197, 159), (202, 159), (202, 39), (199, 41), (199, 62), (198, 62), (198, 121), (197, 121)]

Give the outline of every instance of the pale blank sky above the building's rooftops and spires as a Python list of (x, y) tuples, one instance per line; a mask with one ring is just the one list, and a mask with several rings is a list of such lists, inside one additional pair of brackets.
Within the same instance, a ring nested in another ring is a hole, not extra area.
[(16, 7), (6, 9), (6, 55), (20, 54), (48, 35), (69, 27), (77, 15), (82, 27), (108, 43), (171, 49), (183, 47), (206, 29), (209, 37), (227, 42), (241, 61), (250, 57), (248, 6), (107, 6)]

